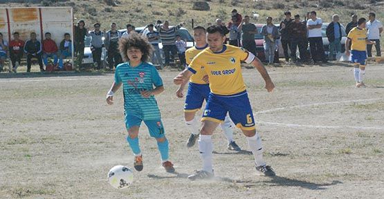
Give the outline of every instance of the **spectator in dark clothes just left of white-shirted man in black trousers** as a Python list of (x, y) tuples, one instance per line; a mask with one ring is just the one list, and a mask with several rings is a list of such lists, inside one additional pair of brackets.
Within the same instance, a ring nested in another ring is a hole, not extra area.
[(300, 21), (300, 15), (295, 15), (295, 20), (287, 28), (289, 35), (291, 35), (291, 61), (297, 62), (296, 49), (299, 48), (301, 61), (309, 59), (307, 54), (307, 26)]

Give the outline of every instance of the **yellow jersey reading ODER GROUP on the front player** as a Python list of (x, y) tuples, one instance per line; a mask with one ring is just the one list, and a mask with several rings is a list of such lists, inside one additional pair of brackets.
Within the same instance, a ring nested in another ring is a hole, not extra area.
[(224, 45), (220, 52), (205, 48), (191, 61), (188, 70), (194, 74), (206, 73), (210, 91), (216, 95), (235, 95), (246, 90), (241, 61), (251, 63), (255, 55), (236, 46)]

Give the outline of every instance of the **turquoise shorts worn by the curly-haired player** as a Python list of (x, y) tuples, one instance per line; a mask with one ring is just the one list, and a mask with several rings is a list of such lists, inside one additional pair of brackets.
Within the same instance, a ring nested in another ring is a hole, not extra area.
[[(141, 125), (141, 122), (143, 120), (132, 114), (126, 114), (125, 115), (125, 126), (127, 129), (130, 129), (132, 126), (139, 126)], [(144, 120), (145, 125), (147, 125), (149, 130), (149, 135), (153, 138), (163, 138), (165, 136), (164, 126), (163, 122), (161, 122), (161, 118), (157, 120)]]

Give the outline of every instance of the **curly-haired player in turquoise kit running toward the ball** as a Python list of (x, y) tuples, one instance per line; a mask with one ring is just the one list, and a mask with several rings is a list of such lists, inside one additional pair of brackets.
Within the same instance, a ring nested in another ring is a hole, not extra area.
[(157, 140), (158, 151), (165, 171), (174, 172), (172, 162), (168, 160), (168, 140), (165, 138), (161, 114), (154, 95), (164, 91), (163, 80), (156, 68), (148, 64), (151, 44), (136, 32), (122, 37), (119, 44), (120, 54), (125, 63), (119, 64), (115, 71), (115, 82), (107, 93), (107, 104), (113, 104), (113, 93), (123, 85), (124, 114), (127, 127), (127, 142), (135, 155), (136, 171), (143, 170), (143, 155), (138, 144), (138, 131), (144, 121), (149, 134)]

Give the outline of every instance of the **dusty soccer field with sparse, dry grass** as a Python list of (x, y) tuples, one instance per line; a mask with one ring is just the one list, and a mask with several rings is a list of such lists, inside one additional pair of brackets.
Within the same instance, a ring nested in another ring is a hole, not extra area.
[(158, 95), (177, 174), (161, 167), (156, 142), (140, 132), (144, 170), (116, 190), (111, 167), (133, 167), (125, 141), (122, 93), (105, 103), (111, 73), (0, 74), (0, 198), (382, 198), (384, 196), (384, 66), (369, 65), (367, 88), (354, 88), (348, 64), (267, 68), (267, 93), (254, 69), (244, 69), (265, 159), (277, 176), (257, 176), (245, 150), (226, 149), (214, 133), (216, 178), (190, 182), (201, 169), (198, 147), (185, 147), (183, 99), (176, 71), (161, 71)]

